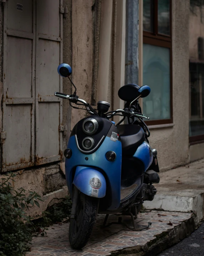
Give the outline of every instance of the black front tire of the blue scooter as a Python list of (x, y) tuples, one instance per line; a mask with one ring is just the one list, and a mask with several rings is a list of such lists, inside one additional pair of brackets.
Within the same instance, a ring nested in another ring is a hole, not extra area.
[(73, 249), (83, 248), (90, 236), (95, 223), (98, 199), (79, 194), (76, 219), (70, 220), (69, 240)]

